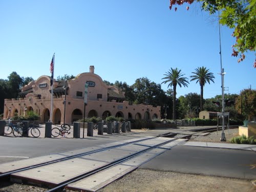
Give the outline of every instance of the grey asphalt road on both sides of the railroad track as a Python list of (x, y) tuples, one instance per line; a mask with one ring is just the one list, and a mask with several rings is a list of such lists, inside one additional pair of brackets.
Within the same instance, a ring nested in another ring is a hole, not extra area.
[[(124, 135), (95, 135), (84, 139), (0, 136), (0, 163), (167, 132), (154, 130)], [(256, 168), (252, 168), (252, 164), (256, 164), (255, 152), (177, 145), (140, 168), (255, 180)]]

